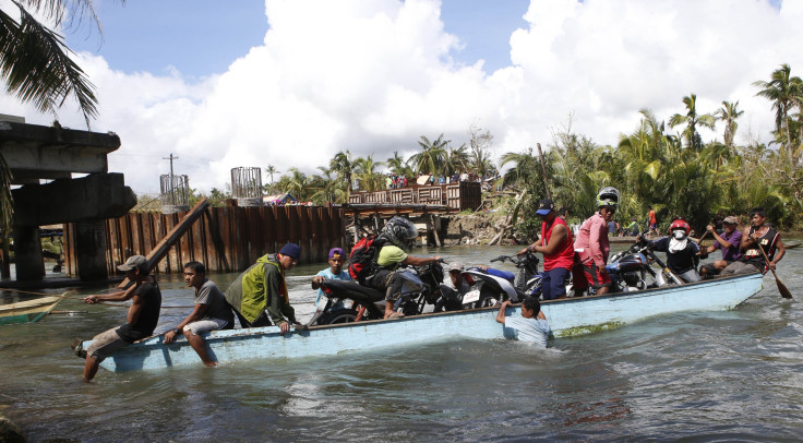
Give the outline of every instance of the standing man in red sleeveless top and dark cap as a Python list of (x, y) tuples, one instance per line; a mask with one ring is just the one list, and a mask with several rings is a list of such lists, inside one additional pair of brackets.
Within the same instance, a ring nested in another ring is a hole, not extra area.
[[(536, 211), (541, 217), (541, 238), (517, 255), (529, 251), (543, 254), (541, 294), (544, 300), (566, 297), (566, 279), (574, 267), (574, 239), (566, 222), (558, 216), (552, 200), (544, 199)], [(540, 244), (539, 244), (540, 243)]]

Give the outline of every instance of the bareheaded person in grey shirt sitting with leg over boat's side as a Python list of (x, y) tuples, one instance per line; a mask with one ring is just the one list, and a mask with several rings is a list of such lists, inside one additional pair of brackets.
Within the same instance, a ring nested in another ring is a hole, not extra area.
[(165, 333), (165, 345), (184, 334), (187, 342), (195, 349), (201, 361), (207, 367), (216, 367), (217, 362), (206, 351), (206, 343), (201, 333), (216, 330), (230, 330), (235, 326), (235, 314), (226, 302), (226, 296), (215, 282), (206, 278), (206, 267), (200, 262), (184, 265), (184, 283), (195, 289), (195, 308), (176, 327)]

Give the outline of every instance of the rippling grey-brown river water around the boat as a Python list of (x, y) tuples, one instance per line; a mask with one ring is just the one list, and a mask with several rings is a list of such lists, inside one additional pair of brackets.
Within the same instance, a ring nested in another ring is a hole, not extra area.
[[(516, 249), (416, 254), (480, 264)], [(59, 310), (88, 312), (0, 326), (0, 414), (31, 441), (800, 441), (801, 265), (794, 249), (778, 270), (795, 301), (781, 299), (768, 274), (733, 311), (649, 319), (548, 349), (464, 339), (215, 369), (100, 370), (91, 384), (70, 340), (123, 323), (125, 309), (65, 300)], [(288, 273), (301, 321), (323, 267)], [(236, 276), (212, 277), (225, 288)], [(166, 307), (192, 303), (178, 275), (159, 280)], [(188, 312), (163, 309), (156, 332)]]

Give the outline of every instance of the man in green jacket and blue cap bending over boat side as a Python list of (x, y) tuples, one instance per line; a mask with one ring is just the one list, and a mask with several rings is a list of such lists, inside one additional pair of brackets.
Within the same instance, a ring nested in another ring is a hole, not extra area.
[(290, 331), (290, 323), (300, 324), (296, 321), (296, 310), (290, 306), (285, 283), (285, 272), (292, 270), (299, 258), (301, 248), (287, 243), (277, 254), (257, 259), (226, 289), (226, 301), (242, 327), (275, 324), (284, 335)]

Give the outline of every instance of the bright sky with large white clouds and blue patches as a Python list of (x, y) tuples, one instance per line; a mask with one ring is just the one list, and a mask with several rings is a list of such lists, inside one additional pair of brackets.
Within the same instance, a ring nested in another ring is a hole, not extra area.
[[(339, 151), (385, 160), (444, 133), (488, 129), (496, 157), (571, 129), (601, 145), (659, 120), (739, 100), (736, 141), (768, 142), (752, 85), (803, 69), (803, 0), (96, 0), (103, 41), (64, 31), (96, 86), (92, 130), (122, 141), (109, 170), (137, 194), (159, 175), (223, 189), (235, 167), (320, 173)], [(74, 104), (0, 113), (85, 129)], [(676, 130), (681, 130), (678, 128)], [(702, 132), (721, 140), (723, 128)], [(263, 182), (269, 179), (263, 173)]]

